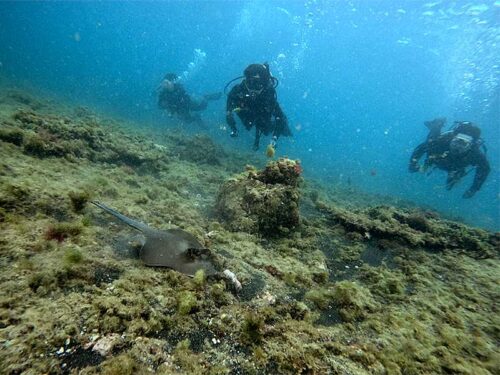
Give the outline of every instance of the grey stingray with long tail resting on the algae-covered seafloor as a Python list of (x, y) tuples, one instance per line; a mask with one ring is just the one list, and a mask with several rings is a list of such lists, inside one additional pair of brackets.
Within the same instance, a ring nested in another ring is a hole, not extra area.
[(157, 230), (100, 202), (92, 203), (142, 232), (146, 240), (139, 255), (147, 266), (168, 267), (189, 276), (193, 276), (200, 269), (204, 270), (206, 275), (217, 272), (210, 259), (210, 250), (204, 248), (192, 234), (182, 229)]

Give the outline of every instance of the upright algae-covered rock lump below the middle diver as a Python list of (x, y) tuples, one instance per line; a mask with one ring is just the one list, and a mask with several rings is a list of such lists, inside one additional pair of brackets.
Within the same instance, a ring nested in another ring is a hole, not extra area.
[(216, 213), (233, 231), (287, 235), (300, 222), (301, 172), (300, 164), (290, 159), (270, 162), (262, 171), (249, 168), (222, 185)]

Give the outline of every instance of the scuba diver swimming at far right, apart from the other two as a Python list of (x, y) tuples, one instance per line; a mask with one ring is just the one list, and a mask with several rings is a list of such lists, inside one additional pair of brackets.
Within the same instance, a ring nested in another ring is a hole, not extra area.
[[(450, 190), (462, 177), (472, 169), (476, 169), (471, 187), (463, 194), (463, 198), (471, 198), (483, 185), (490, 173), (490, 165), (485, 152), (481, 150), (483, 140), (481, 129), (469, 121), (456, 121), (450, 131), (441, 134), (445, 118), (426, 121), (429, 128), (427, 140), (417, 146), (410, 158), (410, 172), (426, 171), (429, 167), (448, 172), (446, 190)], [(423, 166), (418, 161), (427, 153)], [(466, 168), (473, 168), (466, 171)]]

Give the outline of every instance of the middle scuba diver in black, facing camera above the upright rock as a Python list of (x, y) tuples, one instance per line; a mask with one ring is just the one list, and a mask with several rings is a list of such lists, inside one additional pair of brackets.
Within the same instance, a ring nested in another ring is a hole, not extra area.
[(278, 80), (271, 76), (267, 63), (251, 64), (244, 70), (243, 76), (226, 85), (224, 92), (232, 82), (241, 78), (243, 80), (233, 86), (227, 95), (226, 122), (231, 128), (231, 137), (238, 136), (234, 112), (247, 130), (255, 126), (254, 150), (258, 150), (262, 134), (272, 134), (271, 144), (275, 147), (280, 136), (292, 135), (288, 120), (278, 104), (275, 90)]

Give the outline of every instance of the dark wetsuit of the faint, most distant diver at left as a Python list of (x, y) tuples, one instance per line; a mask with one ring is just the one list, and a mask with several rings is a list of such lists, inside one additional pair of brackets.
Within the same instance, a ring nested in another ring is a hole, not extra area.
[(158, 107), (166, 109), (171, 115), (177, 115), (186, 122), (201, 121), (198, 114), (193, 115), (191, 111), (202, 111), (207, 108), (206, 99), (194, 100), (191, 98), (184, 87), (174, 84), (174, 89), (168, 91), (163, 88), (158, 95)]

